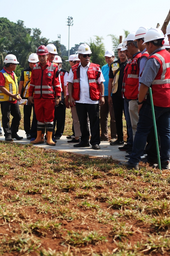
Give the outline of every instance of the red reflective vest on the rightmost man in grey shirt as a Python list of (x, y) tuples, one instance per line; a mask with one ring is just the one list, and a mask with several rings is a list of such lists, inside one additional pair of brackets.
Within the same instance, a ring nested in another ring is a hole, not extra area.
[(160, 64), (151, 85), (153, 104), (157, 107), (170, 107), (170, 53), (164, 49), (151, 55), (148, 60), (150, 58), (155, 58)]

